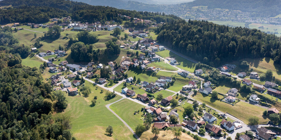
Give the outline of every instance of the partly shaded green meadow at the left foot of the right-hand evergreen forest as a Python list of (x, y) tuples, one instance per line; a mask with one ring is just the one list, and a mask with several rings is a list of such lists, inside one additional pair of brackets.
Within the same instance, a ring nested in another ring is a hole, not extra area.
[(167, 57), (175, 58), (178, 61), (178, 63), (181, 63), (180, 65), (177, 66), (180, 69), (189, 71), (191, 73), (193, 73), (195, 70), (195, 63), (193, 63), (187, 59), (184, 59), (184, 58), (180, 57), (179, 55), (176, 55), (175, 53), (170, 52), (169, 50), (156, 52), (156, 54), (163, 57), (164, 59), (166, 59)]

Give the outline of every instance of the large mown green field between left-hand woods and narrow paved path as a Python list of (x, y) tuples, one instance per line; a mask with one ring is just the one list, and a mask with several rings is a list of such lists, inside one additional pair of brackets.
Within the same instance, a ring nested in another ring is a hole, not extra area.
[[(115, 98), (104, 101), (105, 92), (100, 93), (101, 88), (93, 86), (86, 81), (85, 85), (91, 89), (89, 97), (85, 98), (81, 95), (67, 96), (68, 106), (62, 113), (56, 116), (69, 116), (72, 124), (71, 133), (76, 139), (134, 139), (132, 132), (106, 107), (106, 104), (112, 103), (122, 97), (116, 95)], [(103, 89), (105, 90), (105, 89)], [(90, 107), (91, 100), (94, 96), (98, 96), (96, 106)], [(113, 127), (114, 133), (111, 137), (105, 135), (108, 125)]]

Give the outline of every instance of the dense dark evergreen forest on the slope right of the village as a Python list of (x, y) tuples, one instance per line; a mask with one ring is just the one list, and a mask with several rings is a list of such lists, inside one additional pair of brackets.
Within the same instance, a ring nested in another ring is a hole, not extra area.
[(189, 57), (217, 66), (242, 58), (271, 57), (281, 64), (281, 42), (257, 29), (228, 27), (208, 21), (176, 20), (155, 31), (157, 40)]

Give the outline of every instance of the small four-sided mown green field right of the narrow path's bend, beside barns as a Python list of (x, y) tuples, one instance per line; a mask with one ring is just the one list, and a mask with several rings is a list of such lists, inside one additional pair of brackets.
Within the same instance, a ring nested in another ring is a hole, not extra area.
[[(131, 101), (129, 99), (123, 99), (119, 102), (116, 102), (110, 105), (110, 109), (112, 109), (119, 117), (122, 118), (133, 130), (138, 124), (143, 123), (143, 118), (141, 115), (141, 108), (144, 106)], [(134, 115), (135, 111), (140, 111), (138, 114)]]

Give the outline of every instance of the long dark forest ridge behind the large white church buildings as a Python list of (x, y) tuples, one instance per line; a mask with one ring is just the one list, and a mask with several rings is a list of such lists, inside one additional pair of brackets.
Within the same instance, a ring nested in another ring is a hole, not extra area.
[(11, 22), (47, 22), (49, 18), (71, 16), (75, 21), (96, 22), (114, 20), (121, 24), (125, 17), (118, 14), (140, 19), (154, 19), (156, 22), (171, 22), (178, 17), (142, 11), (129, 11), (105, 6), (92, 6), (85, 3), (65, 0), (4, 0), (0, 5), (10, 5), (13, 8), (0, 10), (0, 24)]

